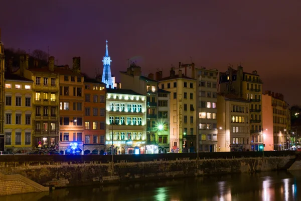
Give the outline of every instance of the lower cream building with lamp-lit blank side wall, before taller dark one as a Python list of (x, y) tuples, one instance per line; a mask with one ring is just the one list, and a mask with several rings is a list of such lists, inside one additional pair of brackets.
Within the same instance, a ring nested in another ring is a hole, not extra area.
[(249, 101), (234, 94), (218, 94), (217, 101), (217, 151), (250, 150)]

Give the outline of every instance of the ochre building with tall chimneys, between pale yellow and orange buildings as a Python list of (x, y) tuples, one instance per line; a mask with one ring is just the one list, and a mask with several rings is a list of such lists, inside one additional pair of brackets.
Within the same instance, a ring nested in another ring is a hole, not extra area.
[[(37, 60), (35, 62), (38, 62)], [(59, 140), (59, 74), (54, 69), (54, 57), (49, 57), (49, 65), (29, 66), (29, 55), (20, 56), (20, 68), (14, 72), (34, 80), (33, 92), (33, 149), (58, 149)]]

